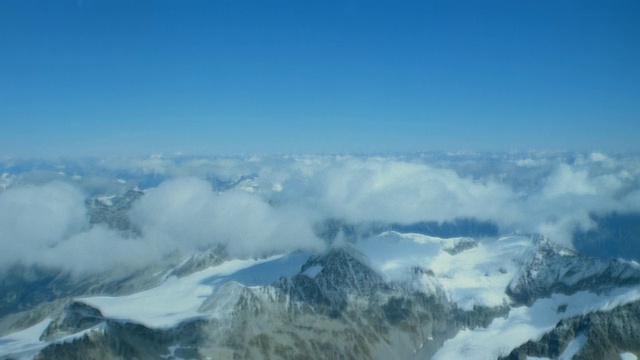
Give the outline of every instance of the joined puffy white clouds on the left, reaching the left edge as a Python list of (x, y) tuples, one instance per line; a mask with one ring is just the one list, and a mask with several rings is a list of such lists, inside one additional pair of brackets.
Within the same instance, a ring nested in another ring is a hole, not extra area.
[(74, 274), (142, 266), (180, 251), (223, 245), (232, 256), (320, 250), (313, 216), (291, 205), (274, 208), (258, 194), (215, 193), (198, 178), (177, 178), (151, 189), (131, 210), (142, 237), (89, 227), (85, 196), (52, 182), (0, 193), (0, 264), (63, 268)]

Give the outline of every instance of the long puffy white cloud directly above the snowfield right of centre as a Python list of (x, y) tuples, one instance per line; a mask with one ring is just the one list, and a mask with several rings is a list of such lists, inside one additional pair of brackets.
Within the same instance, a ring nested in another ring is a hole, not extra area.
[(511, 189), (461, 178), (454, 171), (387, 159), (339, 160), (309, 182), (311, 199), (328, 217), (351, 222), (492, 218), (510, 206)]

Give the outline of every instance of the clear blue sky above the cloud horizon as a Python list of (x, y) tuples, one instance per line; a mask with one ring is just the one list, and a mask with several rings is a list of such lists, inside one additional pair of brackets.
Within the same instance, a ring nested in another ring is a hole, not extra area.
[(0, 155), (640, 150), (640, 2), (0, 0), (0, 128)]

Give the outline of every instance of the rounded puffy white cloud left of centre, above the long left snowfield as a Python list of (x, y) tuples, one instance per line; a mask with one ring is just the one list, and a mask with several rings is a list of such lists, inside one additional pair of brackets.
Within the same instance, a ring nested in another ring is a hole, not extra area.
[(144, 236), (169, 248), (225, 245), (235, 256), (318, 249), (304, 209), (274, 208), (257, 194), (216, 194), (198, 178), (178, 178), (150, 190), (132, 209)]

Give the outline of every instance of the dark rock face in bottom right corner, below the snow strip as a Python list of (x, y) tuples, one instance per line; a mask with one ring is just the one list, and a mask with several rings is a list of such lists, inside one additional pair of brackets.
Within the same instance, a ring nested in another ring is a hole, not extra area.
[(576, 360), (620, 359), (623, 352), (640, 353), (640, 301), (607, 312), (593, 312), (560, 321), (538, 341), (529, 341), (513, 350), (505, 359), (527, 356), (558, 358), (578, 336), (586, 343), (573, 357)]

